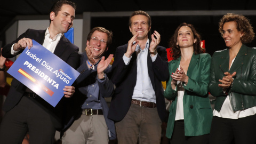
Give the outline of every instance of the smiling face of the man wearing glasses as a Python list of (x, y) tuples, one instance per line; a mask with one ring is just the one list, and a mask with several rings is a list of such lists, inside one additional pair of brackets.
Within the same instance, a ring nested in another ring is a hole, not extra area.
[(92, 46), (91, 50), (93, 52), (94, 59), (101, 58), (102, 55), (108, 50), (107, 43), (101, 41), (102, 39), (103, 41), (107, 42), (108, 35), (95, 30), (94, 33), (92, 33), (90, 41), (87, 40), (87, 45)]

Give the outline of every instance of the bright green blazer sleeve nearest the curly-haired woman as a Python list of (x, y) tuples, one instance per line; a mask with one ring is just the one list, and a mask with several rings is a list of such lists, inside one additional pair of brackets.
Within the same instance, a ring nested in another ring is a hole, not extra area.
[(187, 85), (184, 84), (184, 89), (195, 93), (199, 97), (203, 97), (208, 93), (211, 56), (210, 54), (201, 54), (199, 59), (199, 65), (201, 66), (201, 69), (197, 70), (199, 81), (189, 77)]

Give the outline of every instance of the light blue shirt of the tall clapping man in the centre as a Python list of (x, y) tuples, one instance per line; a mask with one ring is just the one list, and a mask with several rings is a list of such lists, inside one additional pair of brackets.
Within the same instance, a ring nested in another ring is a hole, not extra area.
[[(132, 99), (156, 103), (156, 94), (148, 75), (148, 51), (149, 39), (144, 50), (142, 50), (139, 45), (136, 46), (135, 53), (137, 54), (137, 81), (133, 90)], [(154, 57), (151, 57), (152, 62), (156, 60), (156, 57), (157, 54)], [(129, 65), (131, 58), (127, 58), (125, 55), (123, 56), (125, 65)]]

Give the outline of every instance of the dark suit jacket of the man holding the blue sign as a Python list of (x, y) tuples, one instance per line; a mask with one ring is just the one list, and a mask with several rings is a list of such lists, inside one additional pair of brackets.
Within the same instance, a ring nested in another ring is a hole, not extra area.
[[(11, 54), (11, 47), (14, 43), (17, 43), (21, 38), (26, 37), (30, 39), (34, 39), (39, 44), (43, 44), (46, 30), (34, 30), (28, 29), (25, 33), (21, 34), (19, 38), (13, 41), (10, 44), (7, 44), (3, 47), (2, 55), (5, 58), (12, 58), (14, 55)], [(31, 47), (33, 49), (33, 47)], [(54, 54), (61, 58), (63, 61), (67, 62), (73, 68), (77, 68), (79, 66), (79, 55), (78, 55), (78, 47), (72, 43), (63, 35), (60, 38), (59, 43), (57, 44)], [(20, 51), (19, 53), (22, 53)], [(9, 111), (14, 106), (16, 106), (20, 99), (22, 98), (23, 93), (26, 91), (26, 86), (20, 83), (17, 79), (13, 78), (11, 83), (11, 88), (9, 94), (5, 100), (3, 110)], [(53, 123), (57, 129), (60, 128), (62, 113), (63, 113), (63, 105), (65, 103), (65, 98), (62, 98), (58, 105), (54, 108), (49, 103), (44, 101), (41, 98), (37, 98), (34, 102), (38, 103), (39, 106), (42, 106), (47, 112), (52, 115)]]

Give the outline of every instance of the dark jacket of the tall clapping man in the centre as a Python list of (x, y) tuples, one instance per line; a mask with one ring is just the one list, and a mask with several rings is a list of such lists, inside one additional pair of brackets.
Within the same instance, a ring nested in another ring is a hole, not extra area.
[[(110, 103), (108, 117), (114, 121), (121, 121), (127, 114), (131, 106), (134, 86), (137, 79), (137, 55), (132, 54), (129, 65), (125, 65), (123, 55), (127, 50), (127, 45), (119, 46), (116, 49), (113, 63), (113, 77), (111, 80), (116, 85), (114, 96)], [(150, 43), (149, 43), (150, 45)], [(167, 54), (165, 47), (157, 46), (157, 58), (152, 62), (148, 51), (148, 74), (156, 94), (156, 105), (158, 115), (162, 121), (165, 119), (165, 101), (162, 81), (169, 77)]]

